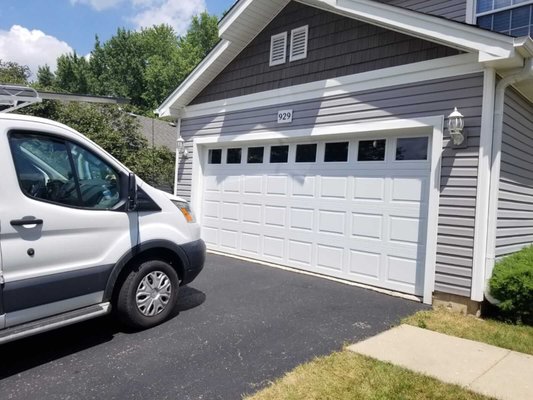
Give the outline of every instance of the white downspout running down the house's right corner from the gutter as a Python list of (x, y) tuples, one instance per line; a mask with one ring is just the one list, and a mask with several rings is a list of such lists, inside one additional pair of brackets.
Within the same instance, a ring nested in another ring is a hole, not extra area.
[(520, 68), (496, 85), (494, 97), (494, 136), (492, 141), (492, 173), (490, 176), (489, 213), (487, 228), (487, 253), (485, 258), (485, 297), (491, 303), (495, 301), (488, 293), (488, 280), (492, 275), (496, 259), (496, 230), (498, 224), (498, 198), (500, 188), (501, 149), (503, 139), (503, 118), (505, 107), (505, 91), (510, 85), (533, 78), (533, 61), (527, 58)]

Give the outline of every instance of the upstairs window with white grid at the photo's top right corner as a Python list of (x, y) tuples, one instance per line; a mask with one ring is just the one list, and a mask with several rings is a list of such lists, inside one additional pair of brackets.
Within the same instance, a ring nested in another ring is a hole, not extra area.
[(526, 36), (533, 31), (533, 1), (477, 0), (477, 24), (481, 28), (511, 36)]

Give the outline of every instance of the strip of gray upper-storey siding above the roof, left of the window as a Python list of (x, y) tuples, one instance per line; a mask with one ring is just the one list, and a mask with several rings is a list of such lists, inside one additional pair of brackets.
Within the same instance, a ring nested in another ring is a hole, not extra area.
[(466, 21), (466, 0), (376, 0), (454, 21)]

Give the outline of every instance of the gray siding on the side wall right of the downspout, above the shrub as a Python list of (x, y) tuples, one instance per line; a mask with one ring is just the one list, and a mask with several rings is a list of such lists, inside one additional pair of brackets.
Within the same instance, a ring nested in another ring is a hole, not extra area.
[(505, 98), (496, 257), (533, 243), (533, 106), (512, 89)]

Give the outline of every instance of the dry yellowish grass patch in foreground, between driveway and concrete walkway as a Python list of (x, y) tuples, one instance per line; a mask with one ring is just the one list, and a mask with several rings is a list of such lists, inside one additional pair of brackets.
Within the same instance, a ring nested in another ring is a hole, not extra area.
[(300, 365), (248, 400), (488, 399), (350, 351)]

